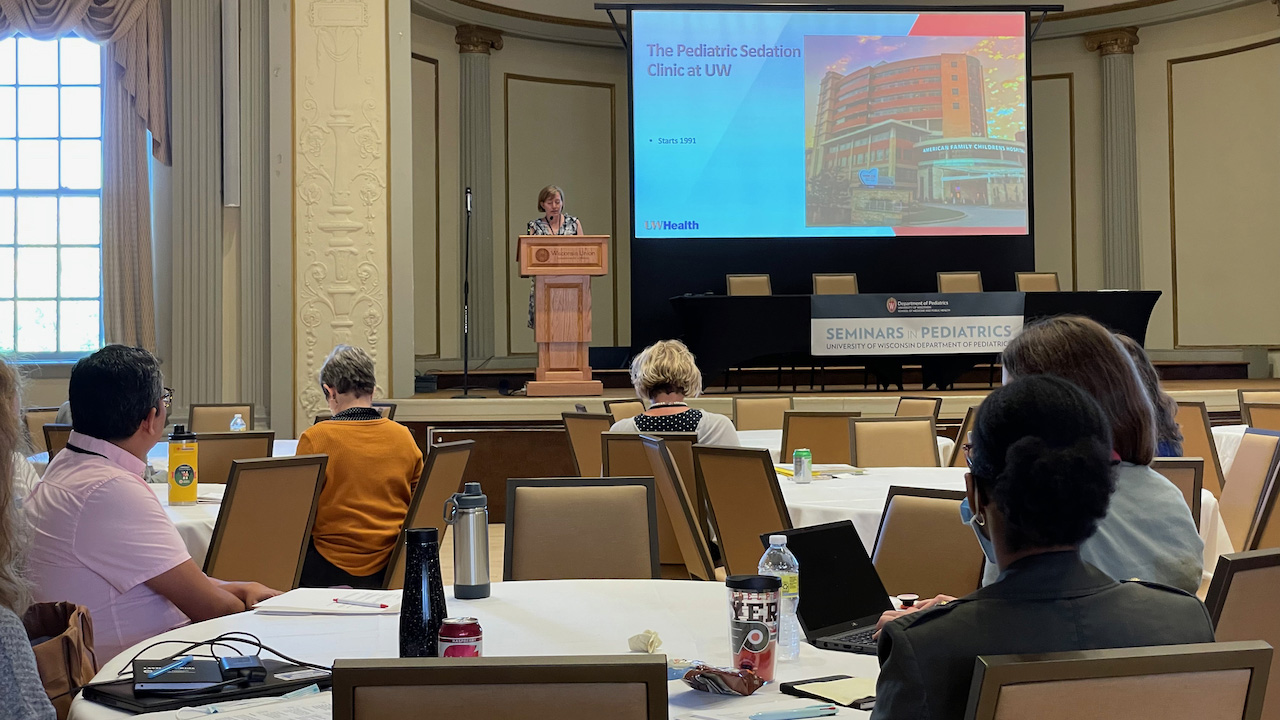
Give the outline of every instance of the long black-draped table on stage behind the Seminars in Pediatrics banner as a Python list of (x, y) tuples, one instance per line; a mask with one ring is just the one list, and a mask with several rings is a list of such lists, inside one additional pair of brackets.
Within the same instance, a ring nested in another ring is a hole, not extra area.
[[(938, 293), (945, 297), (943, 293)], [(724, 296), (684, 295), (671, 304), (681, 320), (681, 337), (698, 357), (703, 373), (723, 373), (730, 368), (810, 366), (831, 363), (831, 356), (810, 354), (809, 295)], [(1025, 322), (1053, 315), (1084, 315), (1139, 343), (1147, 340), (1151, 311), (1160, 299), (1158, 290), (1028, 292)], [(901, 387), (902, 363), (920, 363), (928, 384), (948, 386), (977, 363), (992, 356), (911, 355), (849, 356), (846, 361), (864, 365), (879, 383)]]

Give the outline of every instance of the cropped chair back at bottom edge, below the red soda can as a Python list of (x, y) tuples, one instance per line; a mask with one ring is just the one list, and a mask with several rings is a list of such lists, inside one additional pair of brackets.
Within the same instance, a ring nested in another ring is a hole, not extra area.
[(662, 655), (338, 660), (333, 720), (666, 720)]

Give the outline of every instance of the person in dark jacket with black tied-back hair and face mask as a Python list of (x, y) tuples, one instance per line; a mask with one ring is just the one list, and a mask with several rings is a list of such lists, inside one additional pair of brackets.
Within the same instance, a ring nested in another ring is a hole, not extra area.
[(964, 717), (979, 655), (1213, 642), (1194, 596), (1116, 582), (1082, 557), (1124, 483), (1107, 425), (1093, 398), (1048, 375), (983, 401), (965, 446), (965, 487), (1000, 578), (883, 624), (873, 720)]

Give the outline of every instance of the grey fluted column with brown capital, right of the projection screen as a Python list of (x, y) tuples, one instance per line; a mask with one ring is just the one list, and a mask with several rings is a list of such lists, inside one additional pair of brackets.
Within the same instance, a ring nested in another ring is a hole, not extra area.
[(1138, 245), (1138, 131), (1133, 91), (1137, 27), (1084, 36), (1084, 46), (1102, 56), (1102, 245), (1103, 283), (1142, 288)]

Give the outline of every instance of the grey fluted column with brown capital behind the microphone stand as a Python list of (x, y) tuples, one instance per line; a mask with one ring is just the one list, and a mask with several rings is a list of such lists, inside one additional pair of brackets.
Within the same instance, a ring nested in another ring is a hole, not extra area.
[[(502, 33), (480, 26), (458, 26), (453, 37), (458, 44), (461, 94), (461, 165), (462, 187), (471, 188), (471, 357), (494, 354), (495, 291), (493, 237), (493, 135), (489, 118), (489, 53), (502, 50)], [(466, 233), (466, 199), (457, 199)], [(504, 245), (504, 243), (503, 243)], [(466, 237), (458, 237), (465, 252)], [(462, 252), (460, 252), (460, 256)], [(506, 261), (506, 254), (503, 255)], [(463, 258), (466, 263), (466, 258)]]

